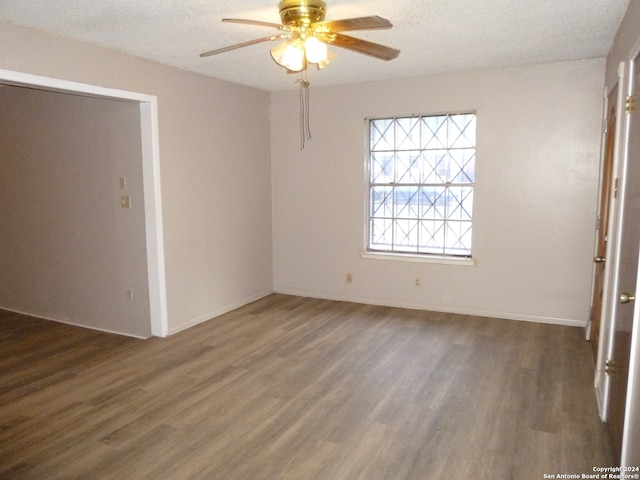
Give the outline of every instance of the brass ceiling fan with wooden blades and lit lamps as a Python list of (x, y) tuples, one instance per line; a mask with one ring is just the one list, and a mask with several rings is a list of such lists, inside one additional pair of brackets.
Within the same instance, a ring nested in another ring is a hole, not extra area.
[(400, 54), (400, 50), (395, 48), (341, 33), (352, 30), (378, 30), (393, 26), (389, 20), (377, 15), (325, 22), (327, 6), (324, 0), (282, 0), (278, 4), (278, 9), (281, 24), (237, 18), (223, 18), (222, 21), (270, 27), (283, 33), (210, 50), (200, 56), (209, 57), (257, 43), (284, 40), (271, 49), (271, 56), (287, 71), (300, 72), (306, 71), (309, 64), (314, 64), (319, 69), (325, 67), (330, 61), (327, 45), (335, 45), (382, 60), (392, 60)]

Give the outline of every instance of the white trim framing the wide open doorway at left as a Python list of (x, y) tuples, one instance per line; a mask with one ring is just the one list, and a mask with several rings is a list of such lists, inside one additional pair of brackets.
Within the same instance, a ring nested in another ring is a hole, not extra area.
[(154, 95), (71, 82), (57, 78), (0, 69), (0, 83), (60, 93), (137, 102), (140, 105), (142, 176), (144, 191), (147, 275), (151, 333), (168, 335), (167, 293), (160, 195), (158, 98)]

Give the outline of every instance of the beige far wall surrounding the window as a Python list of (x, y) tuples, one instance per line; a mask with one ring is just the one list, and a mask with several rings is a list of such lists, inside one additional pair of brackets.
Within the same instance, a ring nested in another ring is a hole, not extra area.
[[(272, 94), (279, 292), (583, 325), (604, 59)], [(362, 258), (367, 117), (476, 110), (474, 267)], [(353, 283), (345, 274), (353, 274)], [(415, 286), (415, 278), (422, 284)]]

